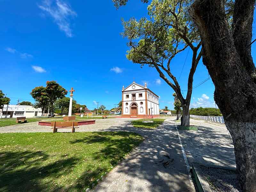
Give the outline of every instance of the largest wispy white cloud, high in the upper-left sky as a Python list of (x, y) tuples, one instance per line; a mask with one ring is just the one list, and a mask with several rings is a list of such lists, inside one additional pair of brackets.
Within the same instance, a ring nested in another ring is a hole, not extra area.
[(38, 5), (38, 7), (52, 16), (54, 22), (59, 26), (61, 31), (66, 33), (66, 36), (73, 36), (69, 18), (75, 17), (77, 14), (68, 4), (60, 0), (56, 0), (56, 4), (52, 4), (51, 0), (44, 0), (42, 5)]

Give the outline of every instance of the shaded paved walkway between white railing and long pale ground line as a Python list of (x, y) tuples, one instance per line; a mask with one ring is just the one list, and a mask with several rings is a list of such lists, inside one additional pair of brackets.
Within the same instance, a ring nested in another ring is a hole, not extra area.
[(234, 145), (225, 124), (190, 118), (198, 131), (179, 130), (188, 162), (236, 168)]

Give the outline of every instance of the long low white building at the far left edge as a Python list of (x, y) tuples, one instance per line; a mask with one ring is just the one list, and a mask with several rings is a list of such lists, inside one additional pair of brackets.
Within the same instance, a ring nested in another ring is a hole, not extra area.
[(1, 118), (34, 117), (41, 115), (41, 108), (34, 108), (30, 105), (4, 105), (0, 114)]

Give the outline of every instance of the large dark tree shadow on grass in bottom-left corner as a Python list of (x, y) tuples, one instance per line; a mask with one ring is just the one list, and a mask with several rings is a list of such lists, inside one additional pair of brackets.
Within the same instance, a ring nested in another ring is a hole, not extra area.
[(71, 157), (49, 164), (45, 163), (48, 158), (42, 151), (2, 151), (0, 191), (63, 191), (61, 184), (53, 185), (54, 179), (68, 174), (63, 169), (70, 169), (78, 159)]

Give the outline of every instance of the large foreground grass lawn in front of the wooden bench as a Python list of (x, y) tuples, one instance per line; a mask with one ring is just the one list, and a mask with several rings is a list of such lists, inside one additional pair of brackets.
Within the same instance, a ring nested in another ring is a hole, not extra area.
[(0, 191), (85, 191), (142, 140), (132, 132), (0, 133)]

